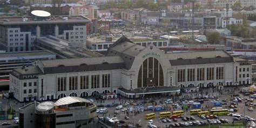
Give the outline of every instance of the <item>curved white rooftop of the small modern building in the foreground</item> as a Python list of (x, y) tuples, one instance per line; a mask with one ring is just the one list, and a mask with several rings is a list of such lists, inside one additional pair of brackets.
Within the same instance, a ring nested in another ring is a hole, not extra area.
[(69, 104), (73, 104), (73, 103), (91, 103), (89, 100), (84, 99), (84, 98), (80, 98), (80, 97), (64, 97), (64, 98), (60, 98), (57, 100), (57, 102), (55, 102), (55, 106), (62, 106), (62, 105), (69, 105)]

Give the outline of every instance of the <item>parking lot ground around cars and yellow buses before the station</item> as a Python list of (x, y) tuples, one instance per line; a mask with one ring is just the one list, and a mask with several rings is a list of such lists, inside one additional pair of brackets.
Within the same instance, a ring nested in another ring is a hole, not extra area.
[[(211, 102), (213, 100), (219, 100), (221, 101), (224, 105), (222, 105), (221, 107), (223, 107), (223, 109), (232, 109), (231, 107), (235, 106), (237, 107), (236, 109), (234, 109), (235, 111), (237, 110), (237, 112), (230, 112), (230, 113), (239, 113), (239, 114), (242, 114), (242, 115), (246, 115), (246, 116), (249, 116), (253, 119), (256, 118), (256, 114), (255, 114), (255, 106), (253, 106), (253, 111), (250, 111), (248, 110), (248, 106), (245, 106), (245, 99), (250, 99), (250, 96), (244, 96), (242, 95), (241, 93), (239, 93), (239, 89), (237, 90), (232, 90), (232, 88), (225, 88), (221, 93), (218, 92), (218, 91), (214, 91), (214, 89), (210, 89), (210, 90), (203, 90), (203, 91), (212, 91), (212, 93), (208, 93), (208, 95), (211, 96), (211, 98), (206, 98), (204, 99), (204, 103), (201, 104), (201, 109), (204, 110), (204, 111), (210, 111), (212, 108), (210, 106), (207, 106), (207, 102)], [(227, 91), (229, 90), (229, 91)], [(233, 94), (236, 94), (235, 96), (232, 96), (232, 99), (231, 99), (231, 95), (230, 95), (230, 92), (234, 91)], [(190, 97), (192, 96), (190, 100), (193, 100), (193, 98), (196, 96), (196, 94), (190, 94), (190, 93), (185, 93), (183, 96), (180, 96), (180, 97)], [(197, 95), (198, 96), (198, 95)], [(213, 98), (215, 97), (215, 98)], [(218, 98), (217, 98), (218, 97)], [(242, 100), (241, 102), (237, 102), (237, 101), (233, 101), (233, 97), (240, 97)], [(166, 99), (169, 99), (170, 97), (161, 97), (159, 99), (155, 99), (154, 102), (156, 102), (157, 104), (159, 104), (160, 101), (164, 101)], [(136, 100), (137, 103), (141, 103), (145, 100)], [(133, 106), (137, 106), (139, 107), (139, 105), (131, 105), (131, 103), (133, 103), (134, 101), (133, 100), (129, 100), (129, 99), (108, 99), (108, 100), (105, 100), (104, 103), (97, 103), (97, 105), (107, 105), (109, 104), (109, 106), (111, 106), (112, 104), (122, 104), (122, 102), (127, 102), (127, 103), (130, 103), (130, 105), (127, 105), (127, 106), (123, 106), (122, 109), (129, 109), (130, 107), (133, 107)], [(147, 102), (150, 102), (150, 99), (147, 100)], [(192, 102), (192, 101), (190, 101)], [(173, 102), (174, 103), (178, 103), (178, 102)], [(231, 103), (235, 104), (233, 106), (231, 106)], [(251, 101), (251, 102), (248, 102), (248, 103), (252, 103), (254, 104), (255, 101)], [(155, 103), (153, 103), (154, 105)], [(166, 105), (165, 103), (163, 105)], [(168, 105), (171, 105), (171, 104), (168, 104)], [(144, 107), (147, 107), (147, 106), (152, 106), (152, 103), (144, 103), (144, 104), (141, 104), (140, 106), (144, 106)], [(172, 105), (171, 105), (172, 106)], [(105, 106), (104, 106), (105, 107)], [(152, 125), (156, 125), (156, 126), (160, 126), (160, 127), (166, 127), (166, 126), (169, 126), (171, 124), (174, 124), (174, 123), (187, 123), (189, 125), (189, 122), (192, 122), (191, 125), (193, 125), (193, 122), (196, 123), (197, 120), (200, 122), (200, 121), (204, 121), (204, 122), (207, 122), (207, 119), (202, 119), (200, 117), (197, 116), (197, 114), (194, 114), (194, 115), (190, 115), (190, 109), (184, 109), (184, 116), (183, 117), (188, 117), (190, 118), (191, 116), (193, 116), (195, 118), (195, 120), (187, 120), (187, 121), (184, 121), (182, 120), (181, 118), (178, 118), (177, 119), (177, 122), (173, 122), (173, 120), (171, 120), (171, 122), (167, 122), (167, 123), (164, 123), (160, 120), (159, 118), (159, 112), (165, 112), (165, 111), (173, 111), (173, 108), (171, 107), (171, 110), (164, 110), (164, 111), (157, 111), (157, 112), (154, 112), (154, 111), (143, 111), (143, 112), (139, 112), (139, 113), (135, 113), (134, 116), (133, 116), (133, 113), (129, 112), (129, 118), (130, 119), (125, 119), (125, 116), (127, 116), (127, 113), (126, 112), (122, 112), (122, 109), (119, 109), (117, 110), (116, 109), (116, 106), (112, 106), (112, 107), (106, 107), (107, 108), (107, 113), (98, 113), (98, 116), (99, 117), (110, 117), (110, 118), (113, 118), (114, 115), (116, 115), (116, 118), (118, 120), (124, 120), (125, 122), (129, 122), (131, 124), (142, 124), (142, 127), (148, 127), (147, 124), (149, 122), (150, 119), (144, 119), (145, 118), (145, 115), (147, 113), (155, 113), (156, 114), (156, 117), (153, 118), (153, 123)], [(100, 107), (99, 107), (100, 109)], [(116, 114), (114, 114), (116, 113)], [(213, 120), (217, 123), (217, 120), (221, 120), (221, 119), (227, 119), (228, 120), (228, 123), (235, 123), (237, 122), (236, 120), (233, 120), (233, 116), (218, 116), (218, 118), (213, 118)], [(169, 120), (170, 121), (170, 120)], [(223, 121), (223, 120), (222, 120)], [(213, 122), (213, 123), (215, 123)], [(206, 124), (205, 124), (206, 125)], [(208, 125), (208, 124), (207, 124)]]

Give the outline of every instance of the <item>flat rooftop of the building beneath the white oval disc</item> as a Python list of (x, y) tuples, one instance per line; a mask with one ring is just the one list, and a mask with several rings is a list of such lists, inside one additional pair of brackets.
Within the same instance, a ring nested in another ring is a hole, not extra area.
[[(68, 20), (64, 20), (63, 17), (68, 17)], [(24, 20), (28, 18), (28, 20)], [(24, 25), (24, 24), (55, 24), (55, 23), (86, 23), (90, 22), (90, 19), (84, 16), (50, 16), (45, 20), (34, 21), (32, 17), (0, 17), (0, 25)]]

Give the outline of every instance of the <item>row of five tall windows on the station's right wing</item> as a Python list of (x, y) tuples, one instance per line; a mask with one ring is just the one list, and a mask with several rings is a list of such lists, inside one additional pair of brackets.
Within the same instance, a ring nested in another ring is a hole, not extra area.
[[(177, 72), (177, 80), (178, 82), (185, 82), (185, 75), (187, 75), (187, 82), (195, 81), (195, 69), (178, 69)], [(214, 68), (207, 68), (206, 69), (206, 80), (213, 80), (214, 79)], [(224, 79), (224, 67), (217, 67), (216, 68), (216, 79)], [(197, 80), (205, 80), (205, 68), (198, 68), (197, 69)]]

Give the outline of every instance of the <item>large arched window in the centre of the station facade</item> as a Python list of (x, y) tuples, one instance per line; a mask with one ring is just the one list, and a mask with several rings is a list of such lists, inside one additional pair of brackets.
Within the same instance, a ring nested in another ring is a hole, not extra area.
[(164, 72), (156, 58), (144, 60), (138, 73), (138, 87), (164, 86)]

